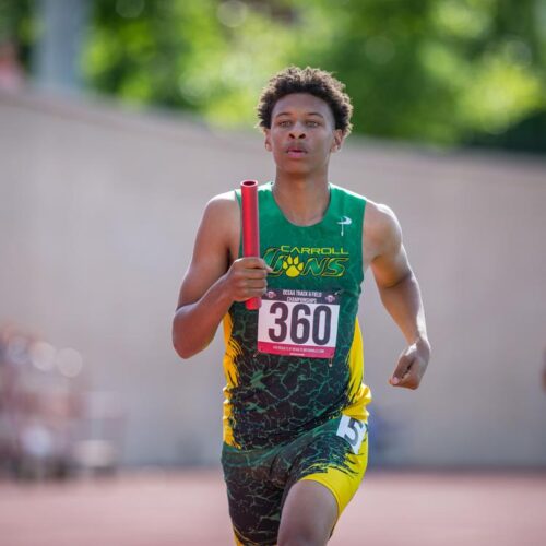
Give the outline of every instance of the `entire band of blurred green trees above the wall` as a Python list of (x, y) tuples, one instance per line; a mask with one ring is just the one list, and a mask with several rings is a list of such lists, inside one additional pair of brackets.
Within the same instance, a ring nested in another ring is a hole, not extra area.
[(310, 64), (346, 83), (356, 133), (546, 152), (546, 0), (93, 0), (93, 10), (88, 86), (132, 104), (250, 127), (269, 76)]

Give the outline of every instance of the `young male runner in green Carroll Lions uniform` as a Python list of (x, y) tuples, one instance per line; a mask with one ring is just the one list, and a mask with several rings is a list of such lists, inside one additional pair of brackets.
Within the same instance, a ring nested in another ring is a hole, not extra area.
[[(241, 258), (240, 194), (204, 211), (173, 339), (189, 358), (224, 322), (222, 463), (237, 544), (323, 545), (367, 465), (357, 320), (364, 272), (407, 341), (392, 377), (416, 389), (430, 356), (417, 280), (390, 209), (330, 183), (351, 131), (344, 85), (288, 68), (258, 105), (275, 180), (259, 188), (261, 258)], [(245, 307), (262, 297), (259, 311)]]

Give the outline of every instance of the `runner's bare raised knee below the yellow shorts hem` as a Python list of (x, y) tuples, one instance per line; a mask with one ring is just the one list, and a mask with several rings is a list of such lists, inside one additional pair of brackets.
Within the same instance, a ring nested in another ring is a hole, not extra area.
[(323, 546), (337, 521), (332, 492), (311, 479), (290, 487), (281, 515), (278, 546)]

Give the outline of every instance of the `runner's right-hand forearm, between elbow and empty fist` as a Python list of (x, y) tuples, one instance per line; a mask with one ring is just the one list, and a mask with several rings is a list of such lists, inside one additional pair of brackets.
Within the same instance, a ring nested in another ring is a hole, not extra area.
[(397, 324), (408, 344), (419, 340), (428, 343), (425, 308), (420, 297), (419, 284), (413, 271), (399, 283), (379, 287), (384, 308)]

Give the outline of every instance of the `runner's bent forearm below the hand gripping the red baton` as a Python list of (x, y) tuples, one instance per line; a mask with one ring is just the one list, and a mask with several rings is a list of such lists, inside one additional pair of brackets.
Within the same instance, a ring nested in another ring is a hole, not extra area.
[(203, 351), (213, 340), (233, 298), (224, 289), (225, 275), (195, 302), (177, 309), (173, 320), (173, 345), (181, 358)]

